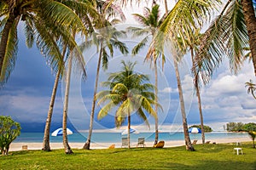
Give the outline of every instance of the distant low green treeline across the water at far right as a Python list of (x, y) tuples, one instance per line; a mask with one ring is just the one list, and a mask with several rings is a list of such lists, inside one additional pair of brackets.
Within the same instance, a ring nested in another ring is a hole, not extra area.
[(244, 131), (255, 131), (256, 123), (242, 123), (242, 122), (228, 122), (225, 130), (228, 132), (244, 132)]

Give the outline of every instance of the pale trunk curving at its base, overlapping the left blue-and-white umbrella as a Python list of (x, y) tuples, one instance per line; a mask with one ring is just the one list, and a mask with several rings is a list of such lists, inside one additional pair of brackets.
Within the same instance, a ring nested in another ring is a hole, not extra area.
[(67, 65), (66, 89), (65, 89), (63, 120), (62, 120), (63, 146), (66, 154), (73, 153), (67, 141), (67, 109), (68, 109), (68, 96), (69, 96), (69, 88), (70, 88), (70, 77), (71, 77), (71, 70), (72, 70), (72, 55), (73, 55), (73, 52), (71, 52), (69, 56), (68, 65)]

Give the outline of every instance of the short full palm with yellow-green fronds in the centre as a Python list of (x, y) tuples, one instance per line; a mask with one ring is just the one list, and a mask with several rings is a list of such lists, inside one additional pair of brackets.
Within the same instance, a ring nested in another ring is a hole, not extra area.
[[(130, 148), (130, 129), (131, 129), (131, 114), (137, 113), (143, 121), (149, 126), (148, 114), (156, 117), (156, 113), (151, 105), (155, 105), (156, 96), (152, 92), (154, 86), (148, 82), (148, 77), (143, 74), (138, 74), (133, 71), (136, 63), (122, 61), (122, 71), (114, 72), (108, 77), (108, 82), (102, 82), (104, 87), (109, 90), (102, 91), (96, 94), (96, 99), (99, 99), (98, 105), (108, 102), (98, 113), (98, 119), (107, 116), (108, 112), (117, 107), (115, 111), (116, 126), (119, 127), (125, 122), (128, 117), (128, 148)], [(160, 106), (160, 105), (159, 105)]]

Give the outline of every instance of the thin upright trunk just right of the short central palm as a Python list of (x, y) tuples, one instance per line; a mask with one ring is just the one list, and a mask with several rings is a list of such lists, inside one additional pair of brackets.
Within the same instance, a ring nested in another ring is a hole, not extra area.
[[(156, 65), (156, 59), (154, 59), (154, 86), (155, 86), (155, 98), (154, 98), (154, 111), (156, 113), (156, 115), (158, 115), (158, 76), (157, 76), (157, 65)], [(155, 117), (154, 119), (154, 128), (155, 128), (155, 136), (154, 136), (154, 144), (158, 143), (158, 116)]]

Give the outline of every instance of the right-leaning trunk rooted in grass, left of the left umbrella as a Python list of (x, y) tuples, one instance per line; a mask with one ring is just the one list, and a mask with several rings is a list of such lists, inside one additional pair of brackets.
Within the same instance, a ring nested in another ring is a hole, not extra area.
[[(64, 56), (65, 56), (65, 53), (66, 53), (66, 49), (67, 49), (67, 46), (65, 45), (64, 48), (63, 48), (63, 52), (62, 52), (63, 59), (64, 59)], [(46, 119), (45, 127), (44, 127), (44, 141), (43, 141), (43, 148), (42, 148), (42, 150), (44, 150), (44, 151), (50, 151), (49, 128), (50, 128), (50, 124), (51, 124), (51, 117), (52, 117), (53, 108), (54, 108), (54, 105), (55, 105), (55, 96), (56, 96), (56, 93), (57, 93), (57, 88), (58, 88), (60, 77), (61, 77), (61, 70), (59, 69), (57, 71), (57, 75), (55, 77), (55, 84), (54, 84), (52, 94), (51, 94), (51, 98), (50, 98), (50, 101), (49, 101), (49, 110), (48, 110), (47, 119)]]

